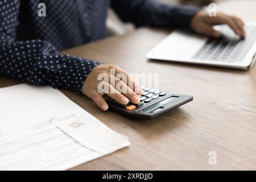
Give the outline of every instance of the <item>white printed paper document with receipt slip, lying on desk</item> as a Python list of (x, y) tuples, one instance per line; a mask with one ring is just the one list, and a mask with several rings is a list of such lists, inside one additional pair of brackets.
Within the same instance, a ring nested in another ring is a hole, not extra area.
[(69, 169), (130, 144), (48, 86), (0, 89), (0, 112), (1, 170)]

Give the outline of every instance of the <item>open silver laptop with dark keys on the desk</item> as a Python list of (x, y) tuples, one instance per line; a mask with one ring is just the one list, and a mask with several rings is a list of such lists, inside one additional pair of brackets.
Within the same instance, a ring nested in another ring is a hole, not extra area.
[(237, 69), (250, 68), (256, 60), (256, 22), (246, 22), (244, 40), (226, 25), (214, 28), (221, 32), (220, 38), (176, 30), (152, 49), (147, 58)]

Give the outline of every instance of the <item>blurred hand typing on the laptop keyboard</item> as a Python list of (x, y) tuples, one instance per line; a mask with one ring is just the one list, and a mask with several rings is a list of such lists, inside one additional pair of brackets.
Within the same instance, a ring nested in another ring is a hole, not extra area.
[(191, 26), (194, 31), (208, 36), (219, 37), (221, 34), (213, 29), (214, 25), (228, 24), (230, 28), (242, 38), (245, 38), (244, 23), (237, 16), (217, 13), (217, 16), (209, 16), (207, 11), (199, 11), (192, 19)]

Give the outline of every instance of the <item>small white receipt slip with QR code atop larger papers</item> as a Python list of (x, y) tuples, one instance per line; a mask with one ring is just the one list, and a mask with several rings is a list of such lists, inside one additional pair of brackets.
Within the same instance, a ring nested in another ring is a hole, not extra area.
[(130, 144), (128, 137), (84, 114), (59, 121), (56, 126), (83, 146), (104, 155)]

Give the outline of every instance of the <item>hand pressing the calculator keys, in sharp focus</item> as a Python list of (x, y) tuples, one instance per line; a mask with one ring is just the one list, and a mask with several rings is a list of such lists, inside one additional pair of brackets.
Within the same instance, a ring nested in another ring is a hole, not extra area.
[[(122, 78), (125, 76), (126, 79), (121, 79), (118, 75), (122, 75)], [(108, 79), (99, 80), (102, 76)], [(106, 111), (109, 107), (102, 98), (103, 94), (107, 94), (122, 105), (128, 104), (129, 101), (138, 104), (140, 102), (138, 96), (142, 93), (142, 89), (133, 77), (117, 65), (101, 64), (95, 67), (86, 78), (82, 93), (92, 98), (98, 107)]]

